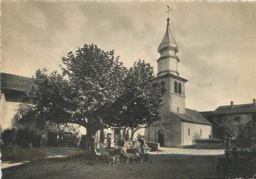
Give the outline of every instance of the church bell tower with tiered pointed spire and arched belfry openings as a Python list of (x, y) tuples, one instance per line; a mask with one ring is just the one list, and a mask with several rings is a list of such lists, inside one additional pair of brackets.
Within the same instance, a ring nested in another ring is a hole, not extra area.
[(163, 96), (163, 113), (185, 113), (185, 83), (188, 81), (179, 76), (177, 52), (179, 47), (171, 33), (170, 19), (167, 18), (165, 36), (158, 47), (160, 57), (157, 59), (158, 73), (156, 80), (165, 88)]

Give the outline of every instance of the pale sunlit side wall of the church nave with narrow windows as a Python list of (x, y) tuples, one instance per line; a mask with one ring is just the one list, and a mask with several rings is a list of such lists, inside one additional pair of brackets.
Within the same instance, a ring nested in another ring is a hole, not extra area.
[[(188, 128), (190, 134), (188, 134)], [(182, 122), (182, 145), (194, 145), (195, 138), (210, 138), (211, 136), (211, 126), (202, 124), (192, 124), (189, 122)], [(200, 133), (202, 130), (202, 133)]]

